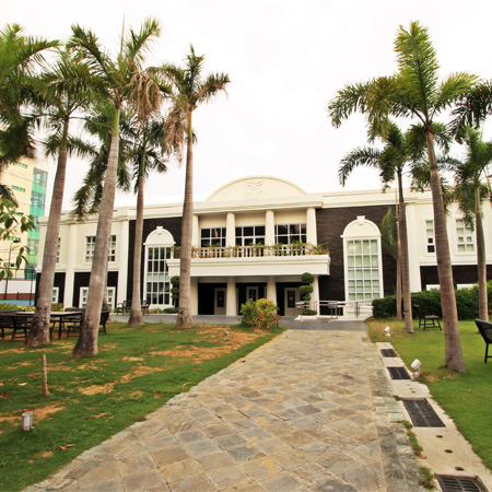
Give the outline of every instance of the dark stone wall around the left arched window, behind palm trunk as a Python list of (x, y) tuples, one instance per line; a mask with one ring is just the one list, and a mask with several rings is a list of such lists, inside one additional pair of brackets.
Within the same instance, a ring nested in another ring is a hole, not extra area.
[[(134, 222), (130, 221), (129, 224), (129, 245), (128, 245), (128, 280), (127, 280), (127, 294), (125, 298), (131, 300), (132, 294), (132, 283), (133, 283), (133, 251), (134, 251)], [(176, 246), (181, 244), (181, 216), (172, 216), (164, 219), (144, 219), (143, 220), (143, 243), (147, 239), (147, 236), (155, 231), (157, 226), (161, 225), (163, 229), (168, 231), (176, 242)], [(143, 296), (143, 272), (144, 268), (144, 255), (145, 248), (142, 246), (142, 255), (141, 255), (141, 266), (140, 269), (140, 297)]]

